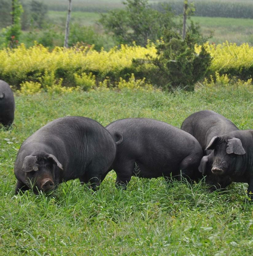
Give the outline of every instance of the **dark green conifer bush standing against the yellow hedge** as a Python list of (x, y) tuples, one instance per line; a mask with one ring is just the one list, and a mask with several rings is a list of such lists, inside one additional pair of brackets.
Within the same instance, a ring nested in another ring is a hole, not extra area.
[(194, 84), (204, 77), (212, 59), (204, 46), (196, 54), (196, 43), (197, 38), (190, 31), (185, 40), (177, 32), (165, 32), (163, 41), (157, 46), (158, 57), (151, 59), (157, 67), (155, 76), (159, 77), (161, 85), (168, 89), (194, 90)]

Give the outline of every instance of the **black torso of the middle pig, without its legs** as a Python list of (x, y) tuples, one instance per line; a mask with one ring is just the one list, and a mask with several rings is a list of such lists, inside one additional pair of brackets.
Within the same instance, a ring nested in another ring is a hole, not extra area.
[[(138, 158), (153, 163), (178, 164), (186, 156), (199, 155), (202, 150), (190, 134), (168, 123), (148, 118), (128, 118), (112, 122), (106, 129), (120, 133), (123, 142), (117, 146), (116, 158)], [(199, 161), (200, 161), (199, 159)]]

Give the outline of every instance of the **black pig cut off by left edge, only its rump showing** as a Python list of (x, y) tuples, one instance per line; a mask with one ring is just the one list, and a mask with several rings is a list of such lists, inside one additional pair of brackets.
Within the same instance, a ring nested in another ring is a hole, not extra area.
[(0, 123), (9, 127), (14, 120), (15, 102), (10, 85), (0, 80)]

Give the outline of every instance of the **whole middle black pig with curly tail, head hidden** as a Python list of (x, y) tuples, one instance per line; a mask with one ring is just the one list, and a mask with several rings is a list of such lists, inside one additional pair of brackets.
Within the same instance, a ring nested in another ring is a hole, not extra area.
[(199, 176), (203, 152), (198, 141), (177, 127), (149, 118), (114, 121), (106, 129), (120, 141), (111, 169), (117, 174), (116, 185), (124, 188), (131, 176), (165, 178), (182, 173), (190, 179)]

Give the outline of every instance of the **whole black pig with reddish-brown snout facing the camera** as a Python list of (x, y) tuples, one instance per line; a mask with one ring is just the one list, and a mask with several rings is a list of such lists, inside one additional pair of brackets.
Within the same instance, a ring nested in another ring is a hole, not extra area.
[(79, 178), (93, 190), (110, 168), (116, 152), (111, 134), (98, 122), (69, 116), (49, 122), (21, 145), (15, 161), (15, 193), (32, 188), (52, 190), (57, 184)]

